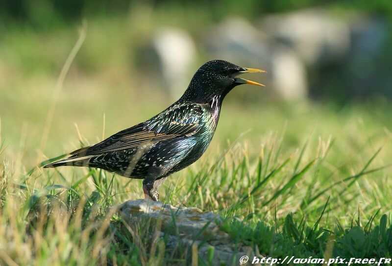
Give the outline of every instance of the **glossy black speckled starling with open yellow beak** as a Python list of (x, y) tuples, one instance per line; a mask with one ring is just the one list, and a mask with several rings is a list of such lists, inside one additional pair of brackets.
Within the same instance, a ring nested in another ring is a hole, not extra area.
[(224, 97), (242, 84), (265, 86), (237, 76), (263, 72), (224, 60), (208, 61), (196, 71), (184, 94), (161, 113), (44, 168), (90, 167), (143, 179), (145, 197), (158, 201), (158, 189), (167, 177), (193, 164), (206, 151)]

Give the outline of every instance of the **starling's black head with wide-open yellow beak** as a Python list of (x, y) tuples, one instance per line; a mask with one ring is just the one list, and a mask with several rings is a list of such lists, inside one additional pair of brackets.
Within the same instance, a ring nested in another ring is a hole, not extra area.
[(224, 60), (212, 60), (202, 65), (188, 86), (183, 98), (208, 101), (214, 96), (224, 97), (234, 87), (242, 84), (264, 86), (255, 81), (237, 77), (242, 73), (266, 72), (260, 69), (243, 68)]

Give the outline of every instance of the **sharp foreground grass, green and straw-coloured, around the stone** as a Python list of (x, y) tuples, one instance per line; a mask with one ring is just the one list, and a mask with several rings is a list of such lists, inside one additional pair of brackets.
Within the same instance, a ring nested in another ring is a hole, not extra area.
[[(222, 229), (263, 256), (391, 257), (390, 142), (377, 148), (387, 133), (354, 154), (344, 147), (344, 132), (325, 140), (313, 133), (297, 149), (286, 134), (267, 134), (260, 148), (242, 137), (220, 152), (209, 150), (164, 184), (162, 200), (221, 214)], [(2, 264), (187, 264), (184, 252), (154, 238), (153, 224), (127, 225), (110, 211), (141, 197), (139, 181), (97, 169), (35, 169), (28, 176), (6, 151)], [(333, 167), (335, 161), (342, 163)]]

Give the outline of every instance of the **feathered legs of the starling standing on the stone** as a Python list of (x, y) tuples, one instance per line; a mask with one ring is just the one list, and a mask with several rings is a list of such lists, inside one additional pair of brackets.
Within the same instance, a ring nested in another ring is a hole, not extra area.
[(167, 170), (162, 167), (152, 167), (148, 170), (147, 177), (143, 180), (143, 192), (146, 198), (158, 201), (158, 189), (166, 179), (166, 177), (160, 177), (164, 175), (165, 172), (167, 172)]

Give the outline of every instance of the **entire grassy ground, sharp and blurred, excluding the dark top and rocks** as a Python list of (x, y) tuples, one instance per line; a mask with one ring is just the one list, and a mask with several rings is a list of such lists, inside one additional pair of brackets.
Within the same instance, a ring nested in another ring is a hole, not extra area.
[[(0, 43), (1, 265), (189, 265), (154, 224), (128, 225), (110, 209), (142, 197), (140, 180), (35, 167), (172, 102), (159, 82), (127, 65), (136, 52), (122, 51), (146, 29), (121, 34), (122, 22), (89, 22), (54, 111), (53, 87), (75, 31), (12, 31)], [(391, 257), (391, 103), (287, 103), (252, 89), (227, 97), (207, 154), (170, 177), (161, 199), (220, 214), (223, 230), (263, 256)]]

